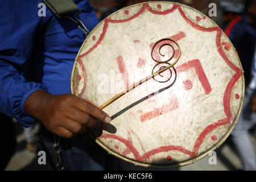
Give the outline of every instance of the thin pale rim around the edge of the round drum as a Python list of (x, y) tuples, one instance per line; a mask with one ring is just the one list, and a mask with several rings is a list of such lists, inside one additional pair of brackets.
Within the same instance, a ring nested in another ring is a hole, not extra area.
[[(181, 7), (184, 6), (184, 7), (187, 7), (188, 9), (191, 9), (193, 11), (196, 11), (197, 13), (200, 13), (201, 15), (205, 16), (203, 13), (201, 13), (200, 11), (196, 10), (196, 9), (193, 9), (192, 7), (190, 6), (187, 6), (187, 5), (184, 5), (182, 3), (176, 3), (176, 2), (169, 2), (169, 1), (154, 1), (154, 2), (142, 2), (142, 3), (137, 3), (135, 5), (131, 5), (131, 6), (127, 6), (127, 7), (123, 7), (122, 9), (119, 9), (118, 11), (115, 11), (114, 13), (110, 14), (109, 16), (112, 16), (113, 14), (115, 13), (118, 13), (119, 11), (123, 11), (124, 9), (127, 9), (127, 8), (130, 8), (130, 7), (133, 7), (133, 6), (138, 6), (138, 5), (143, 5), (144, 3), (170, 3), (172, 5), (180, 5)], [(109, 18), (109, 16), (107, 16), (106, 18)], [(105, 18), (105, 19), (106, 19)], [(208, 18), (208, 17), (207, 17)], [(104, 20), (105, 20), (104, 19)], [(210, 21), (212, 21), (214, 23), (214, 26), (220, 28), (218, 26), (217, 23), (215, 23), (212, 19), (208, 18)], [(101, 22), (103, 22), (104, 20), (102, 20)], [(100, 23), (101, 23), (100, 22)], [(90, 34), (92, 34), (92, 32), (94, 30), (96, 30), (96, 28), (100, 25), (100, 23), (97, 24), (96, 27), (93, 28), (93, 30), (90, 32)], [(223, 30), (220, 28), (221, 30), (221, 35), (224, 35), (226, 36), (226, 34), (223, 32)], [(77, 56), (75, 58), (75, 62), (73, 64), (73, 68), (72, 68), (72, 73), (71, 73), (71, 93), (73, 95), (75, 95), (75, 84), (74, 84), (74, 81), (75, 81), (75, 68), (76, 68), (76, 65), (77, 65), (77, 59), (79, 58), (79, 55), (80, 55), (80, 52), (81, 52), (81, 49), (82, 47), (84, 46), (84, 44), (86, 43), (86, 40), (90, 37), (90, 34), (86, 37), (86, 39), (84, 40), (84, 42), (82, 43), (80, 49), (79, 49), (79, 52), (77, 53)], [(226, 36), (228, 38), (228, 36)], [(233, 43), (229, 40), (228, 38), (228, 41), (230, 43), (230, 45), (232, 45), (232, 47), (234, 47)], [(226, 55), (226, 54), (225, 54)], [(132, 160), (132, 159), (129, 159), (125, 156), (122, 156), (120, 154), (118, 154), (117, 152), (111, 150), (110, 148), (108, 148), (107, 146), (105, 146), (100, 140), (98, 140), (96, 137), (93, 136), (93, 134), (91, 133), (91, 131), (89, 129), (86, 129), (86, 131), (88, 132), (88, 134), (90, 135), (90, 137), (95, 140), (95, 142), (101, 146), (105, 151), (107, 151), (109, 154), (111, 155), (114, 155), (115, 157), (119, 158), (119, 159), (122, 159), (122, 160), (125, 160), (126, 162), (129, 162), (129, 163), (133, 163), (135, 166), (142, 166), (142, 167), (151, 167), (151, 168), (174, 168), (174, 167), (181, 167), (181, 166), (186, 166), (188, 164), (192, 164), (192, 163), (195, 163), (197, 162), (198, 160), (200, 159), (203, 159), (205, 158), (205, 156), (207, 156), (210, 152), (216, 150), (218, 147), (221, 146), (222, 143), (225, 142), (225, 140), (229, 137), (230, 133), (233, 131), (234, 127), (236, 126), (237, 122), (238, 122), (238, 118), (240, 117), (240, 114), (241, 114), (241, 110), (242, 110), (242, 106), (243, 106), (243, 101), (244, 101), (244, 97), (245, 97), (245, 77), (243, 76), (243, 68), (242, 68), (242, 64), (241, 64), (241, 61), (240, 61), (240, 57), (238, 56), (237, 52), (236, 52), (236, 56), (238, 57), (238, 60), (239, 60), (239, 64), (240, 64), (240, 69), (242, 71), (242, 97), (241, 97), (241, 104), (239, 106), (239, 109), (238, 109), (238, 113), (236, 115), (236, 118), (234, 118), (234, 121), (232, 122), (232, 124), (229, 126), (228, 130), (226, 131), (226, 133), (224, 135), (222, 135), (222, 137), (218, 140), (217, 143), (213, 144), (212, 147), (210, 147), (207, 151), (205, 152), (202, 152), (201, 154), (195, 156), (194, 158), (191, 158), (191, 159), (188, 159), (188, 160), (183, 160), (181, 162), (178, 162), (178, 163), (174, 163), (174, 164), (154, 164), (154, 163), (143, 163), (143, 162), (137, 162), (135, 160)], [(75, 95), (76, 96), (76, 95)]]

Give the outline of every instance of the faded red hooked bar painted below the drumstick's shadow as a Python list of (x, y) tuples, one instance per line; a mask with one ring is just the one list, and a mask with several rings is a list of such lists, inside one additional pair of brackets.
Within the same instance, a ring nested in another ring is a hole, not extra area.
[(159, 117), (159, 115), (173, 111), (173, 110), (177, 109), (178, 107), (179, 107), (179, 102), (177, 101), (177, 97), (173, 96), (173, 97), (171, 97), (170, 104), (163, 105), (161, 107), (155, 108), (152, 111), (142, 114), (140, 117), (141, 122), (150, 120), (155, 117)]

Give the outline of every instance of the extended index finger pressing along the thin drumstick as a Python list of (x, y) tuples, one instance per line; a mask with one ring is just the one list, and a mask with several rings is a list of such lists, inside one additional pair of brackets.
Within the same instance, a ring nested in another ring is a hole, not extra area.
[(79, 99), (79, 101), (76, 102), (76, 107), (77, 109), (89, 115), (92, 115), (92, 117), (100, 119), (100, 121), (104, 123), (109, 123), (111, 121), (108, 114), (106, 114), (104, 111), (102, 111), (98, 107), (90, 104), (89, 102)]

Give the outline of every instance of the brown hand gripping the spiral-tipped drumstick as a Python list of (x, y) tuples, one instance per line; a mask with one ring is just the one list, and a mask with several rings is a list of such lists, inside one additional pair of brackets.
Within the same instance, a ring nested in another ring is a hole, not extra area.
[(111, 120), (104, 111), (72, 94), (53, 96), (43, 90), (27, 98), (24, 111), (42, 121), (49, 131), (64, 138), (75, 137), (86, 127), (96, 127), (96, 118), (105, 123)]

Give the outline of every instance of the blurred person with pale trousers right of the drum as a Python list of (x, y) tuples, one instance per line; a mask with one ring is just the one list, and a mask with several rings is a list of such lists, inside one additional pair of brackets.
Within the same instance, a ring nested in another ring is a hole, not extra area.
[(246, 1), (245, 11), (224, 32), (237, 49), (245, 71), (245, 100), (240, 118), (230, 137), (243, 163), (243, 170), (256, 170), (255, 151), (248, 131), (256, 123), (256, 1)]

